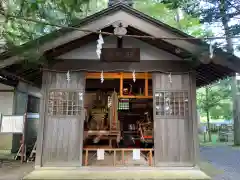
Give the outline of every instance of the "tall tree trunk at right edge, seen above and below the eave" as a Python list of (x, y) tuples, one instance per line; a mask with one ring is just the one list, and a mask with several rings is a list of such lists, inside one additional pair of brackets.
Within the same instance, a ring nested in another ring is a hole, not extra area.
[[(227, 41), (227, 52), (233, 54), (234, 48), (233, 43), (231, 39), (231, 32), (229, 30), (228, 22), (229, 18), (227, 16), (227, 8), (225, 6), (225, 0), (221, 0), (221, 6), (220, 6), (220, 13), (221, 13), (221, 19), (222, 24), (224, 27), (225, 35), (226, 35), (226, 41)], [(239, 114), (239, 104), (240, 104), (240, 97), (237, 95), (237, 80), (236, 80), (236, 74), (233, 74), (232, 78), (232, 101), (233, 101), (233, 122), (234, 122), (234, 145), (240, 145), (240, 116)]]

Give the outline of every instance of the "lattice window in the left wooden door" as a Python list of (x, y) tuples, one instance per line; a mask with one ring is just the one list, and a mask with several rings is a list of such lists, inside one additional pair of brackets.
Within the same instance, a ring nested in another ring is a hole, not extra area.
[(81, 115), (83, 93), (51, 91), (49, 93), (49, 115)]

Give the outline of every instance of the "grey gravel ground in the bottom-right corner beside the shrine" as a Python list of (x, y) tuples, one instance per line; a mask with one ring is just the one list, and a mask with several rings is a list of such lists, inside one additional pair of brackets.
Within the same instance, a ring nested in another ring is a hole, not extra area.
[(201, 147), (201, 159), (207, 160), (217, 169), (223, 171), (213, 180), (238, 180), (240, 179), (240, 151), (227, 146)]

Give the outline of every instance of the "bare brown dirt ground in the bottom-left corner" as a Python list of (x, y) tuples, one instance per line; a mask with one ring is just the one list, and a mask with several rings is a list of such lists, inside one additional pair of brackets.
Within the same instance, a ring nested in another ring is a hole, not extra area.
[(19, 161), (4, 161), (0, 167), (0, 180), (21, 180), (33, 170), (34, 163), (21, 164)]

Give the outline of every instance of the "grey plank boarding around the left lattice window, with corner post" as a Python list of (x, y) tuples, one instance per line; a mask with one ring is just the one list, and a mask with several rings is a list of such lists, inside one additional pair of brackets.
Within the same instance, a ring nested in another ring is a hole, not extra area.
[(84, 73), (71, 73), (71, 80), (66, 80), (66, 73), (43, 72), (38, 131), (36, 167), (40, 166), (81, 166), (84, 109), (80, 100), (80, 115), (50, 115), (48, 113), (49, 92), (84, 93)]

